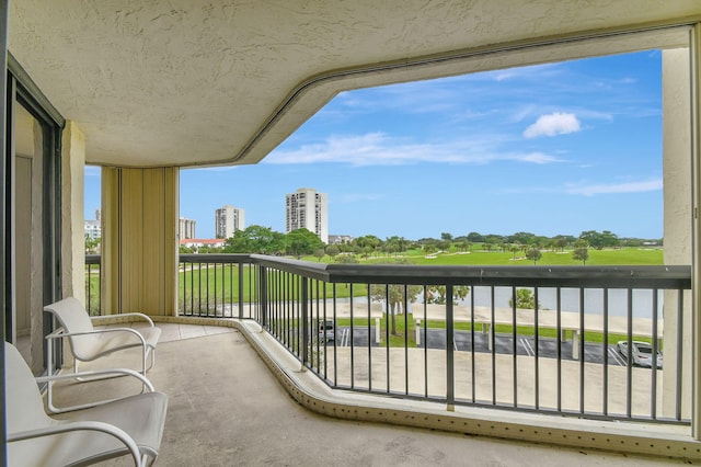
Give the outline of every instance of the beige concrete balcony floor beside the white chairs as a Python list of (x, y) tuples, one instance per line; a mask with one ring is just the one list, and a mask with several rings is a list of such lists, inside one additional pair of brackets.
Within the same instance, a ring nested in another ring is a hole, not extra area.
[[(122, 324), (123, 326), (123, 324)], [(148, 376), (169, 395), (160, 466), (668, 466), (690, 462), (335, 419), (297, 403), (243, 332), (159, 322)], [(99, 366), (136, 367), (124, 352)], [(311, 375), (310, 375), (311, 376)], [(56, 386), (57, 406), (135, 394), (126, 378)], [(344, 394), (345, 395), (345, 394)], [(347, 397), (353, 398), (354, 395)], [(405, 408), (411, 410), (407, 402)], [(106, 466), (131, 465), (120, 458)]]

